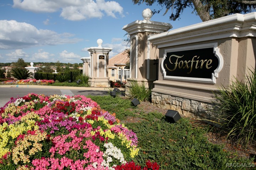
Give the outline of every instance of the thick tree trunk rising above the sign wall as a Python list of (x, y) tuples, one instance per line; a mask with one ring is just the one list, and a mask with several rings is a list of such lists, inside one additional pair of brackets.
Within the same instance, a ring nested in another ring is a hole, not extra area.
[(193, 5), (199, 15), (199, 17), (202, 19), (202, 21), (209, 21), (212, 18), (210, 17), (210, 13), (208, 11), (208, 6), (204, 6), (201, 2), (201, 0), (192, 0)]

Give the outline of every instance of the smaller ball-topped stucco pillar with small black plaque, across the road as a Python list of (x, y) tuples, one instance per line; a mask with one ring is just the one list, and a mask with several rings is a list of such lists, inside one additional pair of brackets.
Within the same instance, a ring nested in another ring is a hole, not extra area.
[(110, 87), (108, 77), (108, 54), (111, 48), (102, 47), (102, 39), (97, 40), (97, 47), (87, 49), (91, 54), (90, 77), (91, 87)]

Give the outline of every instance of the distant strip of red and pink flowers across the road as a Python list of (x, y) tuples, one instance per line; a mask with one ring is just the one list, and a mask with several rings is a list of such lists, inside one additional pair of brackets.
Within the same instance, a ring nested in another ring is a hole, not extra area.
[(36, 80), (36, 79), (26, 79), (26, 80), (7, 80), (0, 82), (2, 85), (7, 84), (21, 84), (21, 85), (49, 85), (53, 84), (54, 80)]

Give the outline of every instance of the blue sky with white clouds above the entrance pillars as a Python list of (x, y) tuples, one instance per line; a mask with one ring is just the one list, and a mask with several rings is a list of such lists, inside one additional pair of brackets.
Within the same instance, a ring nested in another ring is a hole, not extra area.
[[(113, 49), (111, 58), (127, 48), (123, 26), (143, 20), (145, 8), (160, 6), (132, 0), (0, 0), (0, 62), (82, 63), (97, 39)], [(179, 21), (170, 21), (171, 11), (163, 16), (164, 9), (151, 20), (170, 23), (172, 29), (200, 23), (192, 11), (187, 8)]]

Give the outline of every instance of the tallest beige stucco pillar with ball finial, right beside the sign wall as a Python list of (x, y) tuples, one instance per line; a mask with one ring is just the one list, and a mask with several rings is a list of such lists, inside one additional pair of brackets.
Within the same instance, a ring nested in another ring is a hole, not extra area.
[(152, 86), (157, 78), (159, 51), (148, 38), (150, 35), (166, 32), (172, 28), (169, 23), (151, 21), (152, 11), (145, 9), (142, 12), (143, 20), (137, 20), (123, 27), (130, 35), (130, 81), (144, 83), (146, 87)]

